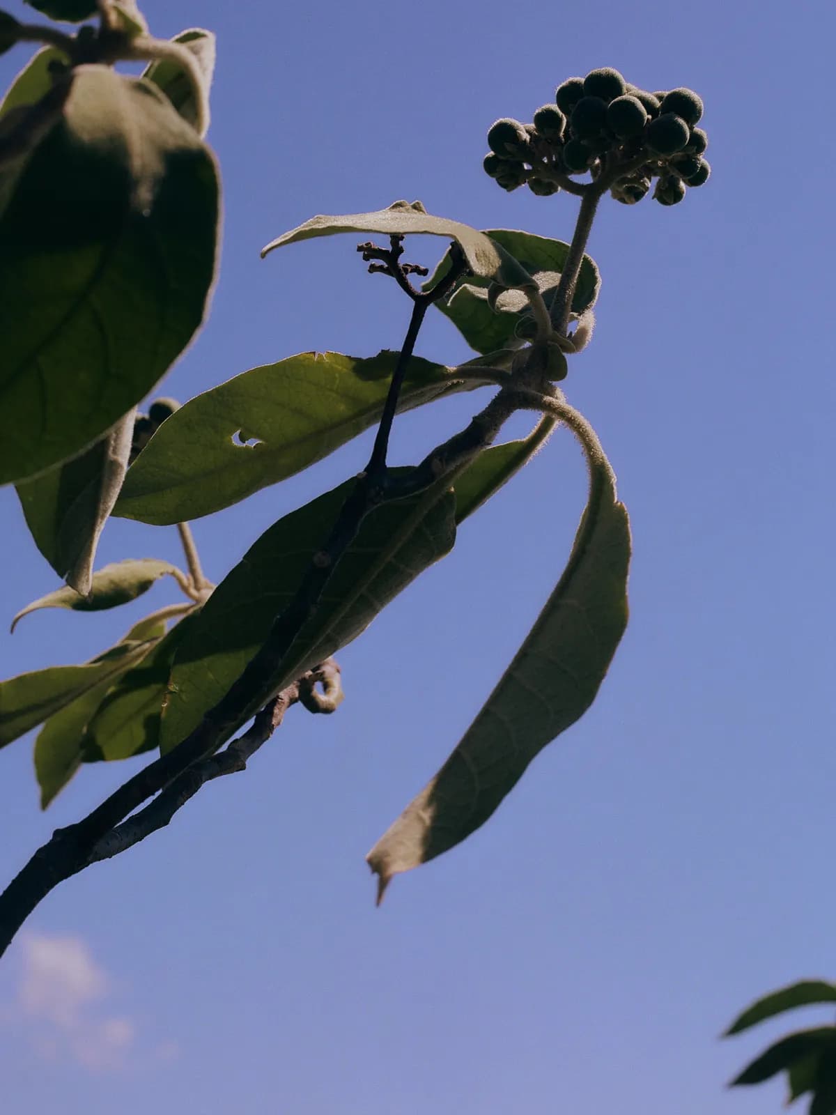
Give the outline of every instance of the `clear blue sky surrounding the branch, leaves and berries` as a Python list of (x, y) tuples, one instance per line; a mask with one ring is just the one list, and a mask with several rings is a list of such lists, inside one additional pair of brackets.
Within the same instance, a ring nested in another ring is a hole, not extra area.
[[(455, 745), (566, 558), (585, 478), (562, 433), (340, 656), (337, 716), (294, 711), (246, 775), (38, 909), (30, 934), (80, 939), (108, 973), (81, 1038), (111, 1016), (136, 1037), (119, 1064), (85, 1066), (66, 1026), (21, 1005), (19, 946), (0, 966), (4, 1108), (777, 1112), (781, 1084), (725, 1082), (790, 1024), (718, 1035), (768, 989), (836, 978), (832, 6), (145, 11), (159, 35), (218, 35), (223, 268), (165, 381), (182, 399), (307, 349), (398, 347), (408, 306), (364, 277), (350, 237), (260, 261), (314, 213), (420, 197), (479, 227), (567, 236), (572, 198), (506, 195), (479, 166), (487, 126), (531, 119), (565, 77), (614, 65), (650, 89), (692, 86), (713, 175), (675, 209), (606, 204), (593, 233), (599, 326), (565, 387), (612, 457), (635, 546), (631, 623), (593, 709), (484, 830), (375, 909), (364, 853)], [(23, 60), (14, 50), (2, 76)], [(438, 248), (412, 241), (409, 256)], [(419, 351), (467, 355), (440, 314)], [(399, 419), (396, 456), (415, 460), (473, 406)], [(197, 522), (211, 575), (366, 452)], [(0, 498), (9, 618), (55, 578), (11, 489)], [(177, 558), (174, 530), (108, 527), (103, 562), (145, 555)], [(118, 613), (36, 614), (2, 637), (2, 675), (84, 660), (168, 599), (161, 585)], [(86, 769), (42, 815), (31, 740), (0, 764), (3, 879), (134, 769)]]

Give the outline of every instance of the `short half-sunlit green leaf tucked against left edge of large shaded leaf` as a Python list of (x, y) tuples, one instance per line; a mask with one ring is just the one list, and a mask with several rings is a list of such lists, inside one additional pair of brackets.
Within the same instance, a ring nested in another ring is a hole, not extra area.
[(196, 612), (185, 615), (110, 688), (87, 725), (82, 762), (126, 759), (159, 746), (161, 716), (174, 656), (196, 619)]

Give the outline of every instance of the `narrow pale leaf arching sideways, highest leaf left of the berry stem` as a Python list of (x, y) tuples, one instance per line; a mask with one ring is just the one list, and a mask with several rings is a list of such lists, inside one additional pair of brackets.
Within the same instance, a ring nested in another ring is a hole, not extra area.
[(312, 240), (314, 236), (333, 236), (340, 232), (379, 232), (387, 236), (426, 233), (431, 236), (446, 236), (458, 242), (475, 275), (495, 280), (503, 287), (509, 288), (525, 288), (532, 284), (532, 278), (525, 268), (521, 266), (500, 244), (459, 221), (431, 216), (420, 202), (410, 204), (399, 201), (388, 209), (377, 210), (373, 213), (311, 217), (298, 229), (292, 229), (271, 241), (262, 249), (262, 259), (268, 252), (283, 244), (294, 244), (297, 241)]

